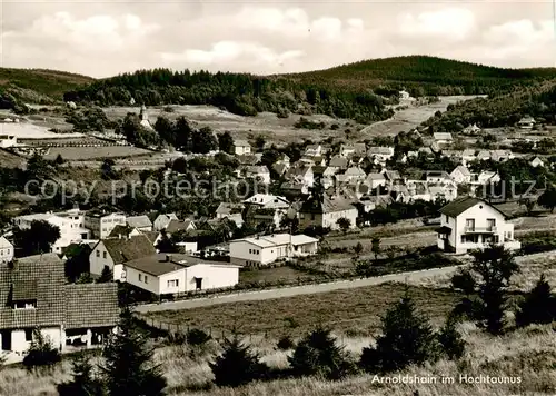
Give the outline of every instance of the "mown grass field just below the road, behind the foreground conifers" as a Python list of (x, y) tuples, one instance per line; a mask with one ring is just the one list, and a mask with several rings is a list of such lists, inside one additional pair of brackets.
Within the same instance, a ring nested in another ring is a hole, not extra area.
[[(212, 329), (215, 334), (284, 334), (299, 335), (316, 324), (334, 327), (348, 334), (371, 334), (379, 323), (379, 315), (404, 295), (401, 284), (385, 284), (357, 289), (336, 290), (289, 298), (266, 299), (188, 310), (149, 313), (146, 317), (180, 326)], [(417, 306), (433, 318), (443, 317), (457, 299), (446, 290), (410, 287), (409, 294)]]

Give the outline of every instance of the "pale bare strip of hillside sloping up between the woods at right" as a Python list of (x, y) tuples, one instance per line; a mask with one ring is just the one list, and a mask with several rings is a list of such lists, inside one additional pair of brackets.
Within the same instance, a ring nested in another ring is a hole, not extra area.
[(391, 119), (365, 127), (359, 131), (359, 135), (363, 135), (364, 138), (373, 138), (375, 136), (394, 136), (401, 131), (407, 132), (433, 117), (436, 111), (446, 111), (448, 105), (474, 98), (476, 98), (476, 96), (440, 97), (440, 101), (437, 103), (410, 107), (397, 111)]

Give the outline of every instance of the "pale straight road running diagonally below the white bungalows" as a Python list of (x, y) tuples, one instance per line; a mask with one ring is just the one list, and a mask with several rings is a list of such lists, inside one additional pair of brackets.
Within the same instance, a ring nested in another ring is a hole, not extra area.
[(419, 280), (421, 278), (428, 278), (431, 276), (438, 275), (447, 275), (454, 273), (458, 266), (454, 267), (444, 267), (444, 268), (434, 268), (426, 269), (421, 271), (410, 271), (410, 273), (400, 273), (400, 274), (390, 274), (384, 275), (379, 277), (365, 278), (365, 279), (356, 279), (356, 280), (339, 280), (328, 284), (319, 284), (319, 285), (305, 285), (305, 286), (295, 286), (295, 287), (284, 287), (277, 289), (268, 289), (260, 291), (245, 291), (240, 294), (231, 294), (224, 296), (215, 296), (207, 298), (196, 298), (189, 300), (181, 301), (169, 301), (162, 304), (148, 304), (140, 305), (136, 307), (137, 313), (153, 313), (161, 310), (179, 310), (179, 309), (191, 309), (199, 307), (208, 307), (218, 304), (226, 303), (240, 303), (240, 301), (257, 301), (264, 299), (272, 299), (272, 298), (284, 298), (284, 297), (294, 297), (299, 295), (310, 295), (317, 293), (327, 293), (340, 289), (350, 289), (357, 287), (380, 285), (387, 281), (405, 281), (406, 279), (410, 280)]

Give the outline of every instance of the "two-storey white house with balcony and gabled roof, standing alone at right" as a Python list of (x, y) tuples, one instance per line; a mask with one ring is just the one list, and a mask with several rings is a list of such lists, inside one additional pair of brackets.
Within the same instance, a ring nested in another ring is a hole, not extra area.
[(464, 254), (484, 249), (490, 244), (502, 244), (510, 250), (522, 247), (514, 239), (514, 225), (506, 221), (502, 211), (481, 199), (457, 199), (440, 209), (440, 214), (437, 245), (443, 250)]

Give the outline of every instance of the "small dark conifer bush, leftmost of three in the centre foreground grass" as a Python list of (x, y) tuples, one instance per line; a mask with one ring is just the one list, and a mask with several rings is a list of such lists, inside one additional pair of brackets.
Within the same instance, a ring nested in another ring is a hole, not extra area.
[(218, 386), (237, 387), (251, 380), (268, 376), (268, 366), (260, 362), (260, 356), (244, 346), (238, 337), (225, 340), (224, 353), (215, 363), (209, 363)]

